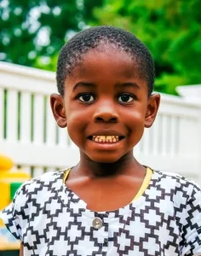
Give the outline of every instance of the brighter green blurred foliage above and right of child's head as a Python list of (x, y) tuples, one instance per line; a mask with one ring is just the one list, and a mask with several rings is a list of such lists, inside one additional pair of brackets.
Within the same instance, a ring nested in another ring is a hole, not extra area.
[(133, 32), (152, 51), (155, 89), (175, 94), (179, 84), (201, 83), (200, 0), (104, 0), (92, 25)]

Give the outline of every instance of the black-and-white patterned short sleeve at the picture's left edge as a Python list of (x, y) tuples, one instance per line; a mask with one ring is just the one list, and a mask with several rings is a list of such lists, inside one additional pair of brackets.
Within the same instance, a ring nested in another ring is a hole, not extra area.
[(10, 205), (3, 209), (0, 212), (0, 218), (3, 220), (3, 223), (10, 231), (10, 233), (18, 240), (22, 241), (22, 232), (21, 232), (21, 208), (25, 202), (23, 201), (23, 185), (18, 189), (14, 195), (14, 200)]

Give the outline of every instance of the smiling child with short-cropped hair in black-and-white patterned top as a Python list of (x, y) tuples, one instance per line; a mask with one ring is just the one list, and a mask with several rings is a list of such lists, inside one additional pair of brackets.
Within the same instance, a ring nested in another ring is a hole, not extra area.
[(51, 108), (80, 161), (25, 183), (3, 210), (21, 255), (201, 255), (201, 189), (133, 154), (158, 111), (153, 83), (150, 52), (122, 29), (90, 28), (61, 49)]

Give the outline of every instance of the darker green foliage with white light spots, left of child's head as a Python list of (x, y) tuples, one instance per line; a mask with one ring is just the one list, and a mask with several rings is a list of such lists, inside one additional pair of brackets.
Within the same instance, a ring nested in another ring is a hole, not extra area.
[[(0, 1), (0, 61), (55, 70), (61, 46), (102, 1)], [(84, 5), (83, 5), (84, 3)]]

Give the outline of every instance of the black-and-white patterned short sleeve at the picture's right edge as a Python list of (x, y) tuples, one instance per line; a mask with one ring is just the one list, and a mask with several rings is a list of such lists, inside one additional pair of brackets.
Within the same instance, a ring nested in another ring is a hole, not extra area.
[(201, 189), (194, 185), (187, 201), (182, 229), (181, 256), (201, 255)]

